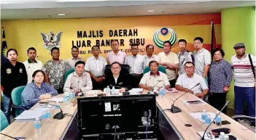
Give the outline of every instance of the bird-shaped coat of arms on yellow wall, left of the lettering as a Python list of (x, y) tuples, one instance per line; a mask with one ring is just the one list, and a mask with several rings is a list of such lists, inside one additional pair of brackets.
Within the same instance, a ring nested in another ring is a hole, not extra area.
[(57, 34), (53, 33), (53, 31), (50, 31), (50, 33), (48, 34), (41, 32), (44, 41), (44, 49), (47, 49), (50, 53), (50, 50), (53, 49), (53, 47), (60, 48), (61, 34), (62, 32), (59, 32)]

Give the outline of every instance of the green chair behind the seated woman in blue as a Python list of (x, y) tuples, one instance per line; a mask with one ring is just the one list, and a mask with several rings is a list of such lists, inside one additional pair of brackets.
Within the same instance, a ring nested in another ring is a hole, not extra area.
[(24, 90), (26, 86), (18, 86), (17, 88), (14, 88), (12, 90), (12, 103), (14, 104), (14, 106), (12, 106), (13, 108), (15, 108), (15, 116), (20, 115), (20, 113), (22, 113), (24, 110), (26, 110), (24, 107), (21, 107), (21, 94)]

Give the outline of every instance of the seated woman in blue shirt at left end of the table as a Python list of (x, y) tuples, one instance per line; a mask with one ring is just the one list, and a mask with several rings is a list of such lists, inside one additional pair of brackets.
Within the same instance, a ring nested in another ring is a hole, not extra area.
[(32, 75), (33, 81), (28, 83), (21, 94), (21, 105), (29, 110), (42, 99), (50, 99), (58, 95), (58, 91), (44, 82), (44, 72), (36, 70)]

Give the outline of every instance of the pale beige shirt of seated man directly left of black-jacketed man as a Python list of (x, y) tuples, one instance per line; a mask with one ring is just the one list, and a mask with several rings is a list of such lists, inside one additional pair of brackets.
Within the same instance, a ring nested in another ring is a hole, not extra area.
[(81, 76), (78, 76), (76, 72), (69, 74), (68, 78), (66, 78), (63, 91), (69, 92), (71, 89), (81, 89), (82, 93), (92, 90), (93, 83), (90, 79), (90, 74), (87, 72), (82, 73)]

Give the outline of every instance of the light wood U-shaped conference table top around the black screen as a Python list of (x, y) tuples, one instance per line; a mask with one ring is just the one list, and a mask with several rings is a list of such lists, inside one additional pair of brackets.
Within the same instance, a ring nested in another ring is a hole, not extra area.
[[(146, 94), (147, 91), (143, 91), (141, 94)], [(185, 94), (181, 98), (175, 102), (175, 106), (179, 107), (182, 112), (178, 113), (171, 113), (169, 110), (171, 104), (174, 102), (177, 97), (182, 95), (184, 92), (179, 91), (178, 93), (167, 93), (164, 96), (157, 96), (156, 97), (156, 104), (159, 110), (159, 115), (162, 116), (162, 122), (160, 122), (160, 131), (166, 131), (167, 133), (163, 132), (163, 136), (165, 139), (177, 139), (175, 136), (171, 137), (168, 136), (170, 133), (170, 128), (173, 129), (175, 134), (177, 135), (178, 139), (185, 139), (185, 140), (198, 140), (200, 136), (198, 135), (198, 131), (204, 131), (206, 126), (200, 120), (193, 118), (189, 113), (191, 112), (201, 112), (202, 110), (206, 110), (207, 112), (217, 112), (217, 110), (209, 104), (194, 104), (194, 105), (187, 105), (185, 104), (184, 100), (193, 100), (198, 99), (198, 97), (194, 96), (193, 94)], [(63, 94), (59, 94), (58, 96), (63, 96)], [(92, 96), (92, 94), (88, 94), (87, 96)], [(96, 94), (95, 94), (96, 96)], [(33, 110), (39, 104), (35, 104), (34, 107), (31, 108)], [(65, 104), (61, 103), (61, 109), (63, 113), (69, 113), (71, 115), (77, 114), (77, 104), (74, 106), (72, 104)], [(52, 110), (52, 116), (55, 115), (60, 110), (55, 109)], [(228, 120), (230, 122), (229, 125), (222, 125), (222, 127), (230, 128), (231, 133), (236, 136), (236, 138), (240, 140), (254, 140), (255, 133), (248, 128), (244, 127), (240, 123), (237, 123), (235, 120), (229, 118), (225, 114), (220, 114), (222, 120)], [(66, 132), (71, 125), (71, 122), (74, 118), (70, 116), (65, 116), (62, 120), (53, 119), (53, 122), (47, 125), (42, 125), (42, 133), (40, 139), (42, 140), (57, 140), (63, 139), (66, 135)], [(165, 123), (166, 121), (166, 123)], [(191, 127), (185, 126), (185, 124), (192, 125)], [(169, 126), (168, 126), (169, 125)], [(216, 125), (212, 124), (210, 126), (210, 130), (217, 128)], [(10, 124), (4, 131), (1, 133), (7, 134), (9, 136), (23, 136), (26, 139), (35, 139), (34, 137), (34, 122), (18, 122), (15, 120), (12, 124)], [(1, 135), (1, 139), (6, 140), (10, 139), (7, 136)]]

